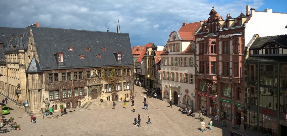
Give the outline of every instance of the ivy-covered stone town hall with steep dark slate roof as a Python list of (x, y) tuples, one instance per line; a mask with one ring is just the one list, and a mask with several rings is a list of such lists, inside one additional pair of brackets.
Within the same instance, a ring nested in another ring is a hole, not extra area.
[(132, 93), (127, 33), (44, 28), (39, 23), (0, 32), (0, 92), (14, 102), (28, 102), (33, 113), (46, 106), (57, 110), (61, 104), (75, 108), (84, 100), (116, 101)]

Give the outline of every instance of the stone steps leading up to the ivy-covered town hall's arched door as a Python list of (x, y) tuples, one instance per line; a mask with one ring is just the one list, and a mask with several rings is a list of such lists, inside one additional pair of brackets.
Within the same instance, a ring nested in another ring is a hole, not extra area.
[[(118, 105), (119, 103), (116, 102), (116, 104)], [(95, 100), (89, 101), (89, 102), (87, 102), (81, 106), (81, 108), (85, 108), (88, 110), (97, 109), (97, 108), (105, 108), (105, 107), (112, 108), (113, 107), (113, 101), (104, 100), (104, 103), (101, 103), (101, 101), (99, 99), (95, 99)]]

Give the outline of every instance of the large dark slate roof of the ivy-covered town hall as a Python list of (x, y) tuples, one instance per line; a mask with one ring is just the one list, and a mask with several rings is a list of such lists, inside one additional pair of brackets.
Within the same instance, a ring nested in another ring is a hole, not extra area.
[[(30, 28), (43, 70), (134, 65), (130, 37), (127, 33), (35, 26)], [(26, 41), (24, 45), (27, 43)], [(69, 47), (73, 47), (73, 51), (69, 51)], [(90, 51), (86, 51), (87, 47)], [(106, 48), (106, 51), (102, 51), (102, 48)], [(63, 66), (57, 65), (56, 53), (60, 52), (64, 53)], [(117, 63), (116, 55), (114, 55), (118, 52), (122, 53), (121, 63)], [(80, 55), (84, 55), (84, 59), (81, 59)], [(101, 58), (97, 58), (97, 55), (101, 55)]]

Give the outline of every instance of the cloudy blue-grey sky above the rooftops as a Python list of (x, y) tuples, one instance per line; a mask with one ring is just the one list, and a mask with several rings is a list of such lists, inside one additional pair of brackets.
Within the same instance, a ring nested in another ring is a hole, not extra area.
[(255, 10), (272, 8), (287, 13), (286, 0), (0, 0), (0, 27), (83, 29), (129, 33), (131, 46), (154, 43), (164, 46), (168, 36), (182, 23), (198, 22), (214, 9), (224, 19), (244, 14), (246, 5)]

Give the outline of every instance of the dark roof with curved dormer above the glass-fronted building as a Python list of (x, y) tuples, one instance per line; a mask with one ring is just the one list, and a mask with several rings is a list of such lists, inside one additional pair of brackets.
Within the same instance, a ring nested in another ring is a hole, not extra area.
[(263, 46), (265, 47), (264, 44), (268, 42), (275, 42), (281, 47), (287, 47), (287, 35), (258, 37), (254, 40), (249, 49), (261, 48)]

